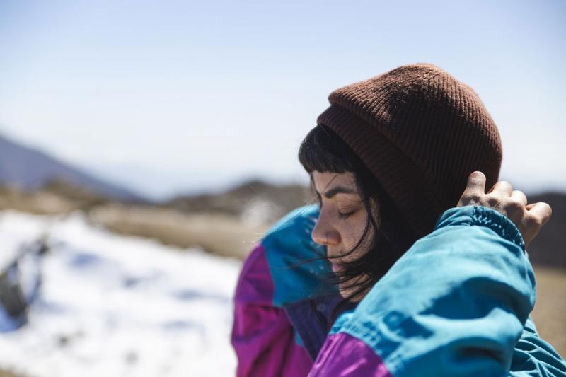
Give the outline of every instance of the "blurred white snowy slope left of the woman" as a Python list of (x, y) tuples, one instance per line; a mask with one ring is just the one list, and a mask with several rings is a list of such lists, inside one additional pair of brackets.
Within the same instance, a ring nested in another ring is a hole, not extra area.
[(0, 212), (2, 245), (44, 232), (50, 252), (42, 257), (29, 322), (10, 330), (0, 320), (0, 369), (57, 377), (233, 376), (238, 261), (115, 236), (79, 214)]

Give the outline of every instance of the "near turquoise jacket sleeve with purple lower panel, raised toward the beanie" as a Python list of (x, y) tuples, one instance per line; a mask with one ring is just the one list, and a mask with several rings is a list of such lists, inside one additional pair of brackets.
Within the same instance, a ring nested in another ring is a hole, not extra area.
[(340, 315), (309, 376), (507, 376), (534, 301), (512, 221), (455, 207)]

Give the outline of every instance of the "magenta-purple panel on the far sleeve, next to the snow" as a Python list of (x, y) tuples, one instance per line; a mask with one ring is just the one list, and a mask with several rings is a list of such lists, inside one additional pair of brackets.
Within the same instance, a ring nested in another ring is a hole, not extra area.
[(295, 342), (282, 308), (273, 306), (274, 286), (258, 244), (243, 264), (234, 297), (231, 343), (237, 376), (306, 376), (313, 362)]

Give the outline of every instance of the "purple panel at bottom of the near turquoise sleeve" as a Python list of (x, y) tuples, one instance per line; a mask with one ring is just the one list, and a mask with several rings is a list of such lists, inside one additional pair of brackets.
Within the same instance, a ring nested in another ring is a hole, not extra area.
[(308, 377), (373, 376), (391, 377), (379, 356), (359, 340), (345, 332), (326, 338)]

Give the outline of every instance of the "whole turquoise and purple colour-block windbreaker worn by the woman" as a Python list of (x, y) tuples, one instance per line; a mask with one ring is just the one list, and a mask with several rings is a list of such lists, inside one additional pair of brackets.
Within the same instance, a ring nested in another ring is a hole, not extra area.
[(238, 376), (566, 376), (529, 316), (536, 280), (506, 216), (448, 209), (333, 324), (339, 296), (317, 294), (329, 268), (310, 239), (317, 217), (315, 205), (291, 212), (243, 264)]

